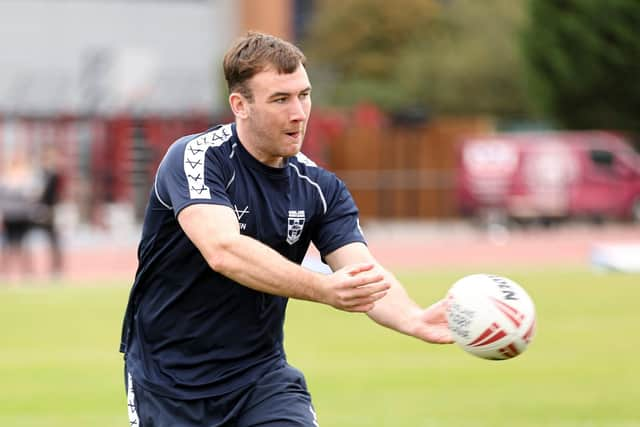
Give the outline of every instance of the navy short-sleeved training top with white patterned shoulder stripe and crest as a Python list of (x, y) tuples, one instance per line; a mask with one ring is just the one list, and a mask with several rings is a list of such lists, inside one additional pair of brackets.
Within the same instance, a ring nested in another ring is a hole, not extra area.
[(242, 234), (295, 263), (365, 242), (344, 183), (302, 153), (283, 168), (246, 151), (235, 124), (180, 138), (158, 167), (120, 351), (140, 386), (176, 399), (219, 396), (285, 364), (287, 298), (212, 270), (177, 221), (185, 207), (233, 209)]

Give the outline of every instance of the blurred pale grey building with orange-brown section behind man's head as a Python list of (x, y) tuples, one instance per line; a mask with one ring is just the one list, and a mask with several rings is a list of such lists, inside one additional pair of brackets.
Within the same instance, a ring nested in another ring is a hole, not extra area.
[(307, 3), (3, 0), (0, 112), (220, 113), (230, 42), (251, 28), (291, 39)]

